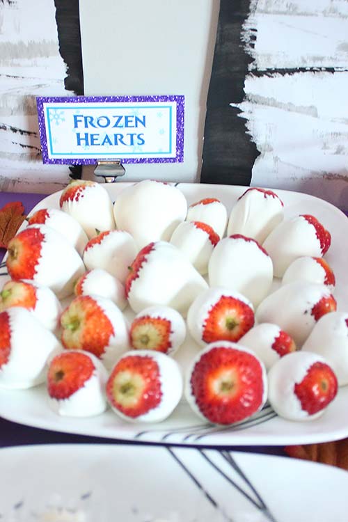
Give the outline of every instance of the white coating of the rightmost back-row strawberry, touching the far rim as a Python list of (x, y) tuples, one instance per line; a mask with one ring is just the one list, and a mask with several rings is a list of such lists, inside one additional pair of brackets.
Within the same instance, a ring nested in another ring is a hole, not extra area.
[(227, 235), (242, 234), (262, 244), (283, 219), (283, 203), (274, 192), (251, 188), (232, 207)]

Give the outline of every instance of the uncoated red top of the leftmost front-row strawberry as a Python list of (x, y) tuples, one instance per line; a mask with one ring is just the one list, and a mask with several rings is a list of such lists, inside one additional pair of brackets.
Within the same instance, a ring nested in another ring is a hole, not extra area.
[(54, 399), (68, 399), (82, 388), (95, 372), (90, 357), (77, 351), (65, 351), (55, 356), (48, 369), (47, 389)]

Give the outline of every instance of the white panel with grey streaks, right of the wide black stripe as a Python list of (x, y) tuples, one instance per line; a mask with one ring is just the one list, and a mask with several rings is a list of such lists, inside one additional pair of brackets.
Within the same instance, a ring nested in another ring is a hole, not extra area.
[(244, 42), (251, 74), (244, 101), (232, 105), (260, 152), (251, 184), (348, 209), (348, 2), (259, 0)]

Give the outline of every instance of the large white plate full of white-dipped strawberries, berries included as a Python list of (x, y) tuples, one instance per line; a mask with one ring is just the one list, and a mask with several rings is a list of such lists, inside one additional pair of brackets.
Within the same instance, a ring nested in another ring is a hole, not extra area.
[(303, 193), (74, 180), (8, 244), (0, 415), (167, 444), (344, 438), (347, 232)]

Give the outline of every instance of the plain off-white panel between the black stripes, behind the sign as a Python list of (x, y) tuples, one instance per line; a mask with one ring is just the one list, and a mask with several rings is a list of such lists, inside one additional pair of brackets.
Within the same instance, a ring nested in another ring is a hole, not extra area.
[(184, 162), (127, 164), (122, 179), (198, 181), (219, 0), (80, 0), (79, 11), (85, 95), (185, 96)]

